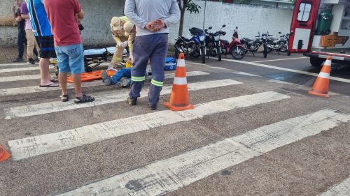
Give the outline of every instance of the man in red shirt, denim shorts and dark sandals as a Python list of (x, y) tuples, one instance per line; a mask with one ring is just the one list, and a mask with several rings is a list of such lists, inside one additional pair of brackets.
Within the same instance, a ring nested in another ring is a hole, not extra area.
[(84, 50), (77, 20), (82, 20), (84, 12), (78, 0), (43, 0), (51, 31), (55, 40), (55, 51), (59, 67), (59, 84), (62, 87), (62, 101), (68, 101), (66, 90), (67, 73), (71, 72), (76, 89), (74, 103), (94, 101), (81, 91), (80, 73), (84, 72)]

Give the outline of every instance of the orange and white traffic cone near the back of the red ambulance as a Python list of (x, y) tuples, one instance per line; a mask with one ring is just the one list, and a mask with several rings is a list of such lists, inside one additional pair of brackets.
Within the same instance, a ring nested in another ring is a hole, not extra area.
[(314, 86), (312, 87), (311, 91), (309, 91), (309, 94), (329, 98), (328, 88), (329, 88), (331, 63), (332, 63), (332, 58), (328, 56), (327, 60), (325, 60), (325, 63), (323, 63), (321, 72), (318, 74), (318, 77), (316, 78)]

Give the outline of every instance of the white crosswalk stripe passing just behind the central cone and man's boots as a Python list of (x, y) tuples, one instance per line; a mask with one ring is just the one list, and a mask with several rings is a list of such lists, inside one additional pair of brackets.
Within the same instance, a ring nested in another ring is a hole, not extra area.
[[(235, 84), (242, 84), (235, 80), (210, 80), (207, 82), (196, 82), (188, 84), (188, 91), (198, 91), (202, 89), (211, 89), (221, 86), (230, 86)], [(60, 112), (65, 110), (74, 110), (84, 107), (92, 107), (96, 105), (104, 105), (107, 103), (117, 103), (120, 101), (125, 101), (130, 90), (127, 91), (115, 91), (110, 92), (109, 94), (104, 94), (102, 96), (94, 96), (94, 102), (85, 103), (77, 105), (73, 102), (62, 102), (55, 101), (49, 103), (39, 103), (36, 105), (22, 105), (18, 107), (5, 108), (3, 111), (6, 115), (5, 119), (13, 119), (15, 117), (25, 117), (25, 116), (34, 116), (40, 114), (49, 114), (52, 112)], [(161, 95), (165, 95), (172, 92), (172, 86), (164, 86)], [(148, 95), (148, 89), (143, 89), (141, 91), (141, 98)]]

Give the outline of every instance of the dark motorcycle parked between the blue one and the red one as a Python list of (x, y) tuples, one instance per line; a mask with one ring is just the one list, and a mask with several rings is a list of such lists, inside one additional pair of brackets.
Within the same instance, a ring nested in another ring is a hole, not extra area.
[[(223, 24), (223, 29), (226, 27), (225, 24)], [(205, 43), (206, 43), (206, 49), (207, 49), (207, 56), (218, 56), (218, 61), (221, 61), (221, 45), (220, 45), (220, 36), (225, 35), (226, 33), (224, 31), (218, 30), (215, 33), (211, 33), (209, 30), (213, 29), (212, 27), (209, 27), (208, 29), (204, 30), (204, 33), (206, 34)]]

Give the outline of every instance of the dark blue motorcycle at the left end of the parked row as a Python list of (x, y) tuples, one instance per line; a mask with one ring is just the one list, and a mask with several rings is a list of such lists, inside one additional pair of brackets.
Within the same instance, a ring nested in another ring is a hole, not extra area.
[(195, 58), (202, 57), (202, 63), (205, 63), (205, 34), (202, 29), (193, 27), (188, 29), (192, 35), (192, 38), (188, 39), (183, 36), (179, 36), (175, 43), (175, 56), (179, 56), (182, 52), (185, 55), (190, 55)]

